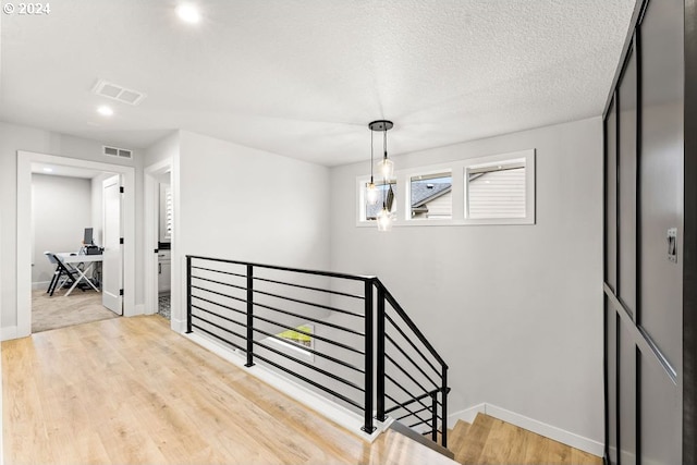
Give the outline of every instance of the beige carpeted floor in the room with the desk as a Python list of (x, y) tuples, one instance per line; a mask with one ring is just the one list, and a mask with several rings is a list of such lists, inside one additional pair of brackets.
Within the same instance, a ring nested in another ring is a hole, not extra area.
[(75, 290), (69, 296), (64, 294), (63, 289), (52, 297), (45, 290), (32, 291), (32, 332), (118, 317), (101, 305), (99, 292)]

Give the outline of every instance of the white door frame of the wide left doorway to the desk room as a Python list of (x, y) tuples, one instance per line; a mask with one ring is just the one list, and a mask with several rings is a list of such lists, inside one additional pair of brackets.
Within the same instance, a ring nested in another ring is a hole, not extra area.
[(17, 150), (17, 338), (32, 334), (32, 163), (108, 171), (122, 175), (123, 316), (136, 315), (135, 306), (135, 168), (77, 158)]

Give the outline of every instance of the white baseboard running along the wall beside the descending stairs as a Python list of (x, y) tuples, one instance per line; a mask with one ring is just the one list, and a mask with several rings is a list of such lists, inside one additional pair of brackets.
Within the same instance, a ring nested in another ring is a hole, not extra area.
[(588, 452), (589, 454), (594, 454), (599, 457), (604, 454), (604, 445), (598, 441), (584, 438), (583, 436), (578, 436), (574, 432), (566, 431), (555, 426), (538, 421), (526, 417), (525, 415), (516, 414), (515, 412), (488, 403), (478, 404), (448, 415), (448, 427), (454, 427), (458, 419), (470, 424), (474, 421), (478, 413), (499, 418), (503, 421), (510, 423), (511, 425), (527, 429), (528, 431), (536, 432), (546, 438), (553, 439), (554, 441), (571, 445), (572, 448)]

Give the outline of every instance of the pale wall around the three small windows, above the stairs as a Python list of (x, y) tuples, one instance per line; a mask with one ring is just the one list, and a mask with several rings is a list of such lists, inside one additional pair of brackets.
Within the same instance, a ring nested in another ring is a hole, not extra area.
[[(394, 137), (396, 137), (396, 133)], [(489, 403), (603, 441), (599, 118), (395, 157), (405, 169), (537, 149), (535, 225), (356, 227), (331, 170), (331, 267), (377, 274), (450, 365), (450, 412)]]

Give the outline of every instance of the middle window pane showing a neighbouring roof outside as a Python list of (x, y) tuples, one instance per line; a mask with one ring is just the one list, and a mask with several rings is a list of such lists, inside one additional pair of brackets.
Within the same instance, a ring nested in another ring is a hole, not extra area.
[(409, 179), (411, 218), (450, 220), (453, 216), (451, 171), (417, 174)]

